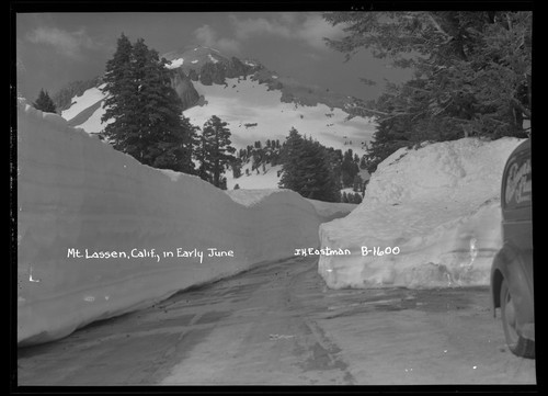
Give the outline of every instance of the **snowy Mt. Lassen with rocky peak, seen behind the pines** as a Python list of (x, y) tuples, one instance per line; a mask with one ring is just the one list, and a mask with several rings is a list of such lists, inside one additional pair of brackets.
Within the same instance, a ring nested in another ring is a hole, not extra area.
[[(283, 142), (295, 127), (327, 147), (342, 151), (352, 148), (362, 157), (373, 137), (373, 120), (353, 114), (359, 100), (278, 76), (255, 59), (228, 58), (201, 46), (170, 52), (163, 57), (174, 72), (172, 84), (183, 101), (183, 114), (197, 126), (217, 115), (229, 124), (237, 149), (256, 140)], [(101, 81), (91, 88), (81, 87), (85, 89), (75, 90), (69, 103), (61, 103), (61, 116), (70, 126), (100, 133), (104, 128)], [(277, 170), (267, 166), (260, 174), (253, 172), (253, 178), (243, 176), (238, 180), (227, 172), (228, 189), (236, 184), (243, 189), (277, 188)]]

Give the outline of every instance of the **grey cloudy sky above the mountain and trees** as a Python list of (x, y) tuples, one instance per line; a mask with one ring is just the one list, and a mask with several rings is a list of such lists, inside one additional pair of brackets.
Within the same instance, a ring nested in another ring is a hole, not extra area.
[(67, 83), (104, 72), (124, 33), (142, 37), (160, 55), (205, 45), (226, 56), (260, 60), (281, 76), (294, 77), (362, 99), (379, 94), (367, 78), (400, 82), (409, 70), (390, 69), (386, 60), (362, 50), (349, 63), (322, 37), (344, 33), (312, 12), (170, 12), (170, 13), (22, 13), (16, 15), (18, 90), (34, 100), (41, 89), (57, 92)]

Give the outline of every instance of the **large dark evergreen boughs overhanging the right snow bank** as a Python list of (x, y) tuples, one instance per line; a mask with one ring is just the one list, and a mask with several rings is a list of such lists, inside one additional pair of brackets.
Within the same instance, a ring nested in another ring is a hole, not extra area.
[[(530, 11), (332, 12), (345, 35), (328, 45), (349, 59), (359, 48), (413, 68), (401, 84), (386, 84), (354, 114), (378, 128), (366, 167), (400, 147), (467, 136), (527, 137), (532, 117)], [(364, 79), (365, 80), (365, 79)]]

